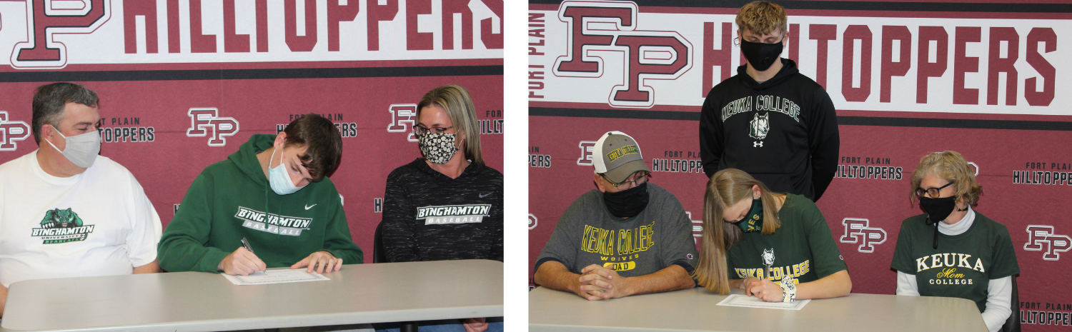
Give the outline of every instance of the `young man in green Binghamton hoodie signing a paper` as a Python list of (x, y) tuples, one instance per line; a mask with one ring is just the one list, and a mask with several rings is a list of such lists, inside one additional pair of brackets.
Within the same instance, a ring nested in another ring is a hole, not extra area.
[(247, 275), (278, 267), (324, 273), (362, 262), (342, 198), (327, 179), (341, 156), (338, 129), (314, 114), (279, 135), (253, 135), (194, 179), (160, 240), (161, 268)]

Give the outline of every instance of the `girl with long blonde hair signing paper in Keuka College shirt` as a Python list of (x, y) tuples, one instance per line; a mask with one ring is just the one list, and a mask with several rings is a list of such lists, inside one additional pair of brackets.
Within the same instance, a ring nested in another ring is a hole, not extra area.
[(710, 291), (740, 288), (769, 302), (844, 297), (852, 290), (827, 220), (801, 195), (773, 193), (740, 169), (708, 181), (700, 262)]

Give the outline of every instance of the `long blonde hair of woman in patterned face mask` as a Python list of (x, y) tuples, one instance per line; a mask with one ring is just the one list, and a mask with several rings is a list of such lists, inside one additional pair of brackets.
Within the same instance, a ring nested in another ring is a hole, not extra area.
[(483, 157), (480, 156), (480, 125), (476, 122), (476, 107), (473, 106), (473, 99), (468, 91), (458, 85), (448, 85), (432, 89), (425, 93), (417, 103), (417, 119), (420, 119), (420, 110), (428, 106), (440, 106), (450, 117), (450, 122), (455, 125), (455, 133), (465, 134), (465, 159), (474, 164), (483, 165)]

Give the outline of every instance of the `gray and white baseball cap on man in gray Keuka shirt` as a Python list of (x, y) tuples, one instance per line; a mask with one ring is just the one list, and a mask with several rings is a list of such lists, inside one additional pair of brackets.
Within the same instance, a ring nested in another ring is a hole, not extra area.
[(602, 173), (614, 183), (622, 183), (632, 173), (647, 169), (644, 159), (640, 154), (640, 145), (629, 135), (622, 132), (607, 132), (599, 141), (596, 141), (593, 150), (595, 157), (592, 162), (596, 166), (596, 172)]

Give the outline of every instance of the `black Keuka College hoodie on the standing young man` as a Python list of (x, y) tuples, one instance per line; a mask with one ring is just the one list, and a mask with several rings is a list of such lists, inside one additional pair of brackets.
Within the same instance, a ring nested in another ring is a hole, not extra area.
[(796, 62), (781, 63), (762, 84), (739, 66), (708, 92), (700, 112), (703, 172), (738, 168), (771, 191), (819, 200), (837, 169), (834, 103)]

